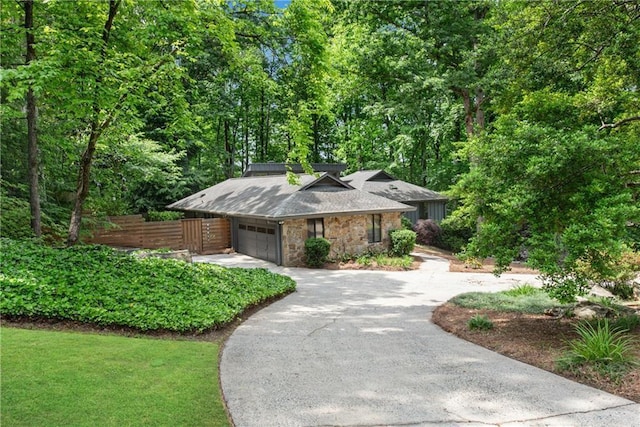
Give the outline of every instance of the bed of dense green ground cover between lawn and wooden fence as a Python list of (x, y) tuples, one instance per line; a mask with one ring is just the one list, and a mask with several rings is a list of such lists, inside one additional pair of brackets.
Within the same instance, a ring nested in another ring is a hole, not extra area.
[(139, 259), (102, 246), (3, 239), (0, 265), (4, 316), (141, 330), (204, 331), (295, 289), (293, 280), (265, 269)]

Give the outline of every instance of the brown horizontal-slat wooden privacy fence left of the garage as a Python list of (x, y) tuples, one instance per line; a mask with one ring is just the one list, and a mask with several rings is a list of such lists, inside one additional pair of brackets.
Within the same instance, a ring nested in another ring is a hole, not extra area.
[(92, 231), (87, 243), (127, 248), (188, 249), (198, 254), (220, 253), (231, 246), (231, 226), (224, 218), (145, 222), (142, 215), (108, 217), (112, 225)]

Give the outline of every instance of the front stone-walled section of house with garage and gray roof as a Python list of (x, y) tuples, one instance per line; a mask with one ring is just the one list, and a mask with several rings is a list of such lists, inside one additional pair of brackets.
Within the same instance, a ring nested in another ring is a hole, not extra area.
[(329, 172), (301, 174), (298, 180), (291, 184), (286, 175), (269, 173), (232, 178), (168, 208), (229, 218), (236, 251), (285, 266), (304, 264), (309, 237), (329, 240), (333, 257), (387, 249), (389, 231), (401, 227), (404, 212), (416, 209), (356, 189)]

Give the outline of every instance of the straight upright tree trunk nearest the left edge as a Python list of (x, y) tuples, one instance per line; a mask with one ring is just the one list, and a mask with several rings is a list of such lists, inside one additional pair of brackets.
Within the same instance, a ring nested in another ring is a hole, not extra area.
[[(27, 52), (26, 64), (36, 58), (35, 36), (33, 35), (33, 0), (24, 2), (24, 28), (26, 30)], [(36, 237), (42, 235), (42, 214), (40, 211), (40, 191), (38, 183), (38, 110), (33, 89), (27, 91), (27, 159), (29, 175), (29, 207), (31, 210), (31, 229)]]

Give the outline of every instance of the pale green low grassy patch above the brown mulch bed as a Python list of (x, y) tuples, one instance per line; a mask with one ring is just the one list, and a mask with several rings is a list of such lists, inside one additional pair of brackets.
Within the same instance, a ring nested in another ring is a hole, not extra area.
[(530, 285), (496, 293), (468, 292), (452, 298), (451, 302), (466, 308), (529, 314), (541, 314), (559, 306), (558, 302), (543, 290)]

